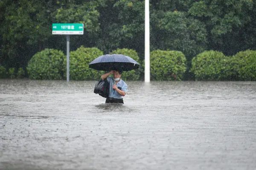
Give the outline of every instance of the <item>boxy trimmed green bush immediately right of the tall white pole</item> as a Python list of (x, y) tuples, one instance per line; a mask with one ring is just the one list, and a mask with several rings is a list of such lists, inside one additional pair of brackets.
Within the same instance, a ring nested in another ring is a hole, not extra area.
[(180, 51), (156, 50), (150, 53), (152, 80), (181, 80), (186, 71), (186, 58)]

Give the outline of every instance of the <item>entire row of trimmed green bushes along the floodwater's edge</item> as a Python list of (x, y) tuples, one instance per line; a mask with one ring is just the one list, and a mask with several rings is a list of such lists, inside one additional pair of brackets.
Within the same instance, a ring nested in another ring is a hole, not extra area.
[[(140, 63), (140, 68), (124, 71), (125, 80), (144, 78), (144, 61), (133, 49), (116, 49), (111, 54), (124, 54)], [(151, 51), (150, 71), (152, 80), (181, 80), (186, 71), (186, 58), (180, 51)], [(70, 52), (70, 79), (98, 80), (104, 73), (89, 68), (89, 63), (103, 55), (98, 48), (84, 48)], [(66, 79), (66, 56), (62, 51), (45, 49), (29, 61), (27, 73), (30, 79)], [(218, 51), (204, 51), (192, 59), (190, 70), (196, 80), (256, 80), (256, 51), (240, 51), (227, 57)], [(6, 69), (0, 65), (0, 78), (23, 78), (23, 68)]]

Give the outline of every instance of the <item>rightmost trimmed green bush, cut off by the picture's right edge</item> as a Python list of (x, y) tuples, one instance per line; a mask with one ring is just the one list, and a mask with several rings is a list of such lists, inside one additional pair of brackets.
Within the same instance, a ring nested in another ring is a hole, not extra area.
[(256, 51), (240, 51), (234, 60), (239, 80), (256, 81)]

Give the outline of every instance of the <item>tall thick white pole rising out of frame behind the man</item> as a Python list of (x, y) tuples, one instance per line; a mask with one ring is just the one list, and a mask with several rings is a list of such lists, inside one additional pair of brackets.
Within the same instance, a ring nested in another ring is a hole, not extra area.
[(150, 82), (149, 0), (145, 0), (145, 82)]

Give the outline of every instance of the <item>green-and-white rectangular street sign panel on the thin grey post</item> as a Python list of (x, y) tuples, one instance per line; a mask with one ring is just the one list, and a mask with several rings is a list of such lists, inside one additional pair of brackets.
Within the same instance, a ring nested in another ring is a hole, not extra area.
[(52, 34), (61, 34), (61, 35), (84, 34), (84, 24), (53, 23)]

